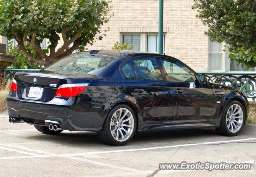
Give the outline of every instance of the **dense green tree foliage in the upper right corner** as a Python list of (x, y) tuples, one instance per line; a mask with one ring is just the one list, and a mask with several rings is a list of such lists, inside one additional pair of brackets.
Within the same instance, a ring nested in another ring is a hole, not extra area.
[(256, 66), (256, 0), (194, 0), (206, 35), (228, 44), (230, 59)]

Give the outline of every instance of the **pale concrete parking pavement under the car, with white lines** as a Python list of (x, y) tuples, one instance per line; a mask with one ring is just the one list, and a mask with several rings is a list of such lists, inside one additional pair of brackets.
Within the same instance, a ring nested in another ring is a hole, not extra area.
[[(256, 176), (256, 135), (224, 137), (214, 129), (138, 133), (123, 147), (96, 133), (44, 135), (0, 115), (1, 176)], [(159, 170), (159, 163), (252, 163), (251, 170)]]

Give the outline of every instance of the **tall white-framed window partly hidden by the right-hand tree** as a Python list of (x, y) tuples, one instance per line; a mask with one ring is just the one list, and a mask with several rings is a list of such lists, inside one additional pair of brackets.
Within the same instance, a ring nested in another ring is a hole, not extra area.
[(209, 39), (209, 66), (210, 72), (254, 72), (254, 68), (248, 68), (230, 61), (228, 47), (224, 43), (213, 42)]

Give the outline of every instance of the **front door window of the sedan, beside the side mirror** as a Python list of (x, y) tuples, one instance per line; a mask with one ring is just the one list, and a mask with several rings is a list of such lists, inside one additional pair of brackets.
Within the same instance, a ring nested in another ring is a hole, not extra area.
[(186, 68), (183, 64), (160, 58), (160, 62), (164, 66), (168, 75), (169, 81), (172, 82), (196, 82), (196, 77), (192, 71)]

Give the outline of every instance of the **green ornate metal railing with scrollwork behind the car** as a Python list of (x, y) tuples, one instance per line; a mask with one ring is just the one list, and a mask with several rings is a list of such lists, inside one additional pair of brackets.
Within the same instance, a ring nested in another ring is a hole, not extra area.
[[(4, 79), (12, 80), (16, 72), (35, 72), (40, 69), (5, 69)], [(206, 76), (208, 82), (231, 86), (246, 93), (251, 101), (256, 98), (256, 72), (198, 72)]]

